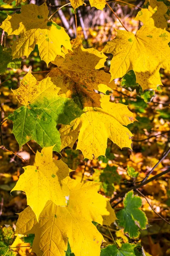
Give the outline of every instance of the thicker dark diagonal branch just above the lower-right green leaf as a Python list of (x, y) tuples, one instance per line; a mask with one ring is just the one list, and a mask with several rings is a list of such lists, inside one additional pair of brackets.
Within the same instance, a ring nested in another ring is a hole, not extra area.
[[(139, 189), (140, 187), (142, 187), (142, 186), (144, 186), (144, 185), (150, 183), (150, 182), (153, 181), (153, 180), (156, 180), (157, 178), (159, 178), (159, 177), (161, 177), (161, 176), (167, 174), (168, 172), (170, 172), (170, 168), (168, 168), (168, 169), (165, 170), (164, 172), (160, 172), (159, 174), (157, 174), (157, 175), (151, 177), (149, 180), (145, 180), (144, 182), (141, 182), (139, 185), (132, 186), (132, 187), (126, 189), (125, 191), (123, 191), (123, 192), (119, 193), (118, 195), (116, 195), (114, 198), (111, 198), (110, 203), (112, 203), (113, 201), (115, 201), (117, 198), (120, 198), (120, 197), (124, 196), (124, 195), (125, 195), (127, 192), (129, 192), (130, 190)], [(120, 202), (121, 202), (121, 201), (119, 201), (119, 203), (120, 203)], [(118, 203), (116, 203), (116, 205), (117, 205), (117, 204), (118, 204)], [(115, 207), (115, 205), (113, 205), (113, 207)], [(113, 207), (112, 207), (112, 208), (113, 208)]]

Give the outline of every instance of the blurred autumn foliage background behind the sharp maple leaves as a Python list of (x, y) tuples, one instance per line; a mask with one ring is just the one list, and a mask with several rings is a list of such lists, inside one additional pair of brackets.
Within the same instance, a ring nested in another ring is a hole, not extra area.
[[(127, 2), (139, 7), (143, 6), (143, 1), (141, 0), (127, 0)], [(41, 5), (42, 0), (31, 0), (29, 3)], [(53, 13), (56, 10), (55, 6), (63, 5), (65, 1), (48, 0), (47, 3), (50, 13)], [(170, 4), (167, 1), (165, 3), (167, 5)], [(28, 4), (28, 0), (22, 4)], [(140, 28), (140, 22), (133, 20), (139, 10), (138, 8), (119, 1), (110, 4), (129, 31), (135, 33)], [(0, 0), (1, 9), (15, 7), (15, 1), (9, 5)], [(17, 7), (20, 8), (20, 6)], [(20, 13), (20, 9), (15, 11), (2, 11), (1, 9), (0, 23), (6, 19), (8, 14)], [(75, 38), (76, 26), (72, 8), (62, 8), (54, 15), (54, 20), (67, 29), (71, 38)], [(98, 50), (102, 50), (106, 42), (115, 37), (115, 29), (123, 29), (119, 20), (113, 16), (108, 8), (100, 11), (82, 6), (77, 10), (77, 22), (78, 34), (83, 40), (84, 47), (96, 47)], [(2, 32), (1, 30), (0, 37)], [(3, 47), (11, 47), (16, 37), (13, 35), (8, 38), (7, 35), (4, 36)], [(104, 69), (109, 72), (112, 56), (108, 55), (107, 57)], [(45, 78), (48, 71), (53, 67), (53, 64), (50, 63), (47, 67), (45, 62), (41, 61), (38, 49), (35, 47), (28, 58), (22, 58), (19, 69), (7, 68), (5, 73), (1, 74), (0, 101), (2, 120), (19, 107), (11, 88), (15, 90), (20, 86), (20, 81), (28, 70), (31, 68), (36, 79), (40, 81)], [(108, 140), (106, 157), (100, 156), (97, 160), (88, 160), (83, 159), (81, 151), (76, 150), (75, 143), (73, 149), (65, 148), (62, 150), (62, 160), (74, 170), (71, 173), (72, 178), (81, 182), (87, 180), (101, 182), (99, 193), (111, 198), (133, 186), (134, 182), (141, 181), (153, 166), (158, 163), (163, 154), (170, 148), (170, 73), (165, 73), (164, 70), (160, 70), (160, 73), (163, 86), (159, 86), (156, 91), (147, 90), (142, 92), (142, 88), (139, 84), (136, 84), (136, 77), (133, 71), (129, 71), (122, 79), (115, 79), (116, 89), (108, 91), (108, 94), (111, 95), (111, 101), (128, 105), (128, 108), (138, 120), (138, 122), (128, 125), (134, 135), (132, 138), (133, 151), (129, 148), (121, 150)], [(19, 145), (14, 135), (11, 134), (12, 123), (9, 120), (3, 122), (2, 130), (3, 144), (11, 152), (0, 149), (0, 225), (3, 227), (0, 233), (0, 241), (4, 241), (4, 237), (8, 233), (8, 239), (6, 238), (5, 240), (6, 245), (12, 244), (12, 247), (16, 247), (13, 252), (8, 252), (9, 256), (34, 255), (29, 247), (34, 235), (14, 236), (15, 224), (18, 218), (16, 213), (26, 208), (26, 195), (17, 191), (12, 192), (12, 195), (10, 195), (10, 191), (20, 174), (23, 173), (22, 167), (27, 165), (15, 154), (33, 164), (35, 155), (30, 147), (35, 152), (37, 150), (40, 151), (41, 148), (36, 142), (30, 141), (19, 151)], [(54, 158), (59, 159), (59, 154), (54, 152)], [(154, 169), (150, 177), (159, 174), (168, 167), (170, 167), (170, 159), (167, 156)], [(148, 183), (140, 191), (147, 197), (153, 209), (163, 218), (170, 221), (170, 174)], [(123, 229), (119, 230), (117, 225), (113, 225), (110, 229), (112, 236), (117, 244), (141, 242), (146, 256), (168, 256), (170, 255), (170, 225), (153, 212), (144, 197), (141, 198), (142, 210), (148, 218), (147, 229), (141, 230), (138, 238), (130, 239)], [(116, 201), (114, 201), (115, 204)], [(123, 204), (121, 202), (114, 209), (118, 212), (122, 208)], [(99, 224), (96, 224), (96, 226), (105, 238), (106, 243), (103, 246), (112, 244), (113, 239), (108, 229)], [(71, 255), (70, 248), (68, 248), (66, 255)]]

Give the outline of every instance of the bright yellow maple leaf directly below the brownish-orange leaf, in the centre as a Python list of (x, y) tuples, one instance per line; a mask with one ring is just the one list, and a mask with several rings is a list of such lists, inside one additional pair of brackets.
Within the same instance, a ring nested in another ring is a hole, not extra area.
[(83, 110), (85, 113), (71, 125), (62, 125), (59, 130), (62, 148), (72, 147), (78, 139), (77, 149), (88, 159), (92, 159), (93, 155), (96, 158), (105, 155), (108, 138), (120, 148), (131, 148), (133, 134), (123, 125), (136, 119), (127, 106), (109, 100), (110, 96), (102, 96), (101, 108), (86, 107)]

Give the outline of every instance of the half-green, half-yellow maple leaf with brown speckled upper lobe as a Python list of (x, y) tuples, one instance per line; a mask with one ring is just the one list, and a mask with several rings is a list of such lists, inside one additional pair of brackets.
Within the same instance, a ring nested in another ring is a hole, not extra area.
[(72, 99), (57, 95), (62, 86), (60, 78), (45, 78), (38, 82), (29, 72), (13, 93), (24, 105), (8, 116), (13, 121), (13, 134), (20, 147), (35, 140), (42, 148), (56, 144), (60, 152), (61, 140), (57, 124), (70, 124), (82, 114)]

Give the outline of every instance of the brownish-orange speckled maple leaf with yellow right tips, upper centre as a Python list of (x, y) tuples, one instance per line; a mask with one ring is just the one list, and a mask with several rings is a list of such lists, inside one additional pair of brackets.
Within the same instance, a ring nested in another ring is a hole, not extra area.
[(109, 83), (110, 75), (108, 73), (97, 70), (104, 67), (107, 57), (95, 48), (83, 48), (79, 38), (72, 41), (72, 50), (73, 52), (67, 51), (65, 58), (60, 56), (55, 58), (53, 63), (58, 68), (51, 70), (48, 76), (62, 76), (63, 86), (60, 93), (74, 98), (82, 108), (85, 106), (98, 107), (100, 96), (94, 90), (105, 93), (116, 87), (114, 81)]

